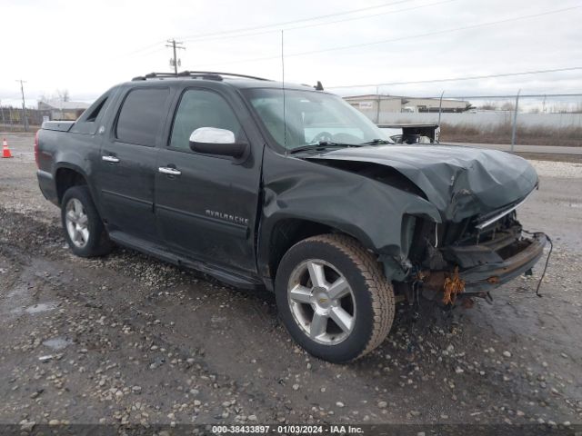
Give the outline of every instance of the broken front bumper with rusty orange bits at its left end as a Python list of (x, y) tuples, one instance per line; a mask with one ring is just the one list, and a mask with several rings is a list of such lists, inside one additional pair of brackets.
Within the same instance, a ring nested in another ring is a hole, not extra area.
[(533, 233), (531, 237), (507, 233), (481, 245), (447, 247), (450, 268), (422, 272), (423, 289), (447, 293), (449, 286), (455, 294), (484, 295), (530, 270), (546, 244), (545, 233)]

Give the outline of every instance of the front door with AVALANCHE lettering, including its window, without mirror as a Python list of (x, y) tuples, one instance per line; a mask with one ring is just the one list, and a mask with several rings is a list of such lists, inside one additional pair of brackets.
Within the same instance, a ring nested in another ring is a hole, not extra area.
[(261, 156), (245, 162), (190, 150), (199, 127), (217, 127), (247, 142), (232, 106), (214, 91), (187, 89), (169, 141), (158, 154), (156, 219), (167, 243), (186, 256), (238, 272), (256, 272), (255, 223)]

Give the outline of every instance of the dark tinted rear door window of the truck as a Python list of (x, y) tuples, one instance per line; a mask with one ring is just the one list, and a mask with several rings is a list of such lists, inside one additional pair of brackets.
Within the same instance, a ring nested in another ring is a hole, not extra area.
[(134, 89), (125, 97), (115, 129), (117, 141), (155, 146), (167, 114), (168, 88)]

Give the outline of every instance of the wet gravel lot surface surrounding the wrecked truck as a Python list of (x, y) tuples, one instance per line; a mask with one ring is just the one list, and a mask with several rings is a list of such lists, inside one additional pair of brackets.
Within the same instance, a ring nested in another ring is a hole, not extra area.
[[(0, 159), (0, 423), (529, 424), (582, 421), (582, 165), (535, 162), (522, 222), (554, 239), (495, 302), (397, 308), (386, 341), (333, 365), (298, 349), (273, 295), (117, 248), (65, 247), (35, 181), (32, 136)], [(419, 313), (416, 317), (415, 312)], [(569, 431), (569, 430), (566, 430)], [(416, 434), (416, 432), (415, 432)], [(574, 433), (572, 433), (574, 434)]]

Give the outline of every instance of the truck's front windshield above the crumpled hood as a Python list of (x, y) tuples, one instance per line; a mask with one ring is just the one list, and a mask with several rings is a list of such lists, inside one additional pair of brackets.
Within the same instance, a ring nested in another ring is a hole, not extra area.
[(386, 133), (337, 95), (285, 90), (284, 123), (282, 89), (249, 89), (245, 94), (266, 130), (287, 150), (310, 144), (392, 143)]

